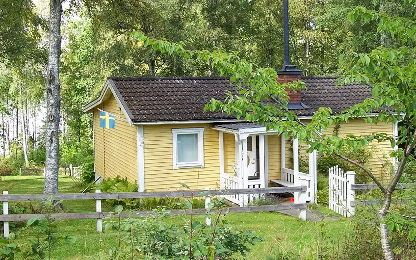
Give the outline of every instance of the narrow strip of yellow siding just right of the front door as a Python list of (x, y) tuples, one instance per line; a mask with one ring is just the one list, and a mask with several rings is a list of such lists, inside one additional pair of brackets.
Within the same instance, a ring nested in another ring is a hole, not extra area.
[(270, 180), (281, 179), (281, 146), (280, 135), (271, 134), (267, 136), (267, 171), (269, 182)]

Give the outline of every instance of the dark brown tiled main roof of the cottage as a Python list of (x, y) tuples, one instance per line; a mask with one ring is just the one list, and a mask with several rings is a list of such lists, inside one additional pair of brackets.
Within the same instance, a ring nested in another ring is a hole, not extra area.
[[(312, 115), (318, 107), (340, 113), (371, 96), (369, 85), (352, 83), (336, 86), (337, 77), (302, 77), (307, 88), (301, 91), (307, 109), (295, 109), (299, 116)], [(224, 100), (225, 90), (234, 91), (227, 78), (108, 78), (120, 92), (133, 115), (133, 122), (235, 119), (225, 113), (204, 113), (211, 98)]]

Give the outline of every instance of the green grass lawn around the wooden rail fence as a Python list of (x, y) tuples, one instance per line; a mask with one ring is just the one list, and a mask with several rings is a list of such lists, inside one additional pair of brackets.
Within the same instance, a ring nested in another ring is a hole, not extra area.
[[(15, 183), (15, 184), (12, 184)], [(9, 194), (42, 193), (42, 176), (3, 177), (0, 182), (0, 190), (7, 188)], [(59, 179), (60, 193), (78, 193), (82, 190), (79, 186), (66, 177)], [(64, 201), (67, 212), (95, 211), (95, 201), (79, 200)], [(321, 208), (319, 208), (321, 209)], [(322, 208), (324, 209), (324, 208)], [(109, 205), (103, 203), (103, 211), (111, 211)], [(230, 225), (241, 230), (254, 230), (262, 237), (263, 242), (251, 246), (252, 250), (245, 256), (245, 260), (257, 260), (272, 258), (275, 251), (281, 253), (296, 252), (303, 254), (305, 250), (313, 250), (323, 235), (329, 235), (331, 241), (339, 241), (349, 232), (351, 220), (341, 219), (337, 221), (303, 222), (297, 218), (286, 216), (278, 212), (258, 213), (234, 213), (225, 217)], [(179, 217), (169, 217), (167, 221), (180, 222)], [(53, 259), (81, 260), (86, 257), (94, 259), (99, 251), (100, 240), (106, 245), (116, 243), (116, 234), (102, 233), (96, 231), (96, 220), (65, 220), (58, 225), (61, 234), (73, 234), (77, 237), (74, 244), (63, 244), (53, 254)], [(11, 230), (16, 232), (17, 230)], [(19, 236), (19, 242), (27, 243), (30, 234)]]

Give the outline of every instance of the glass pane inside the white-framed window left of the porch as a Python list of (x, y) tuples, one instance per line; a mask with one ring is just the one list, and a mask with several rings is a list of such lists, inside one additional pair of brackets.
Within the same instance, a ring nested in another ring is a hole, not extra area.
[(178, 162), (198, 161), (198, 134), (178, 134)]

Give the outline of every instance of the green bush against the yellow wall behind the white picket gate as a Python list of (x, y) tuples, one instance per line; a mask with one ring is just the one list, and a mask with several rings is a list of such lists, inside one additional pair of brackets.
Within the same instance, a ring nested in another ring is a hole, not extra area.
[[(359, 163), (364, 165), (367, 169), (371, 169), (369, 165), (369, 159), (372, 158), (373, 154), (371, 151), (365, 148), (359, 149), (357, 152), (347, 152), (345, 156), (352, 160), (357, 160)], [(316, 168), (318, 173), (323, 176), (328, 176), (328, 169), (338, 165), (344, 172), (354, 171), (356, 183), (366, 183), (370, 181), (370, 177), (359, 167), (339, 158), (335, 155), (320, 156), (316, 160)]]

